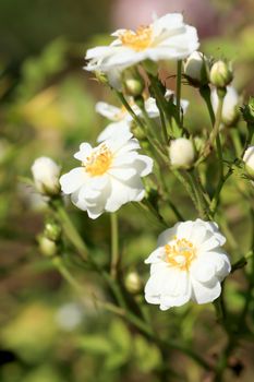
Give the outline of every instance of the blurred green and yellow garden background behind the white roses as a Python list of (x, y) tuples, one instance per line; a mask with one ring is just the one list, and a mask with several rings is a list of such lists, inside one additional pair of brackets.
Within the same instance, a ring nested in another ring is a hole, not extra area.
[[(244, 96), (254, 93), (254, 2), (251, 0), (0, 0), (2, 382), (157, 381), (156, 370), (160, 365), (157, 348), (126, 329), (121, 320), (95, 307), (93, 294), (108, 295), (101, 282), (84, 273), (77, 259), (74, 255), (72, 259), (71, 250), (66, 250), (70, 268), (84, 286), (81, 298), (61, 279), (51, 262), (38, 253), (35, 237), (43, 229), (45, 204), (22, 181), (22, 177), (31, 177), (31, 165), (36, 157), (51, 156), (66, 171), (75, 164), (72, 154), (78, 144), (87, 140), (95, 142), (106, 126), (94, 111), (95, 103), (116, 99), (82, 69), (85, 51), (108, 41), (109, 33), (119, 26), (147, 23), (153, 10), (158, 15), (183, 11), (199, 32), (202, 50), (235, 61), (234, 85), (239, 91), (244, 88)], [(184, 87), (183, 97), (191, 100), (186, 116), (190, 129), (206, 127), (207, 115), (197, 93)], [(190, 218), (194, 217), (189, 200), (177, 192), (177, 187), (171, 180), (172, 194), (177, 193)], [(230, 228), (238, 232), (237, 246), (244, 252), (252, 235), (247, 228), (249, 206), (240, 204), (232, 183), (226, 196)], [(107, 264), (109, 217), (104, 215), (93, 222), (73, 206), (69, 211), (93, 255)], [(145, 279), (148, 270), (144, 271), (143, 260), (154, 249), (161, 227), (150, 217), (140, 219), (135, 214), (143, 216), (135, 206), (124, 206), (120, 212), (123, 267), (126, 272), (140, 267), (142, 275), (146, 272)], [(173, 224), (170, 212), (166, 214)], [(235, 283), (230, 284), (232, 309), (243, 303), (240, 283), (241, 277), (237, 276)], [(192, 314), (186, 314), (190, 310)], [(156, 313), (157, 307), (153, 308), (153, 314)], [(203, 319), (202, 327), (196, 324), (197, 319)], [(156, 320), (166, 335), (171, 331), (176, 338), (181, 336), (190, 344), (195, 341), (197, 349), (208, 348), (210, 354), (216, 354), (223, 342), (219, 330), (213, 333), (213, 343), (207, 334), (214, 324), (207, 308), (183, 307), (178, 313), (161, 312)], [(179, 322), (180, 334), (174, 330)], [(241, 381), (254, 379), (253, 350), (250, 344), (242, 347), (241, 357), (247, 368)], [(179, 363), (182, 381), (199, 380), (193, 362), (173, 353), (170, 358), (172, 363)]]

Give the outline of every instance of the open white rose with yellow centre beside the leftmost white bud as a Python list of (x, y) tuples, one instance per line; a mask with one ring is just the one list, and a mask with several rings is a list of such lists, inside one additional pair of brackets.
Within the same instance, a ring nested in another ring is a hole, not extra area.
[(152, 172), (153, 159), (138, 154), (138, 148), (130, 132), (116, 134), (95, 148), (82, 143), (74, 155), (82, 164), (60, 178), (62, 191), (93, 219), (141, 201), (145, 194), (141, 178)]

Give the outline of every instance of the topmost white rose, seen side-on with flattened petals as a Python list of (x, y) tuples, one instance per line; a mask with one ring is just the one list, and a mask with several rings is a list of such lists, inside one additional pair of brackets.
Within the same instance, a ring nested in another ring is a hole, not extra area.
[[(88, 71), (119, 72), (144, 60), (181, 60), (198, 48), (196, 28), (184, 24), (180, 13), (169, 13), (136, 32), (118, 29), (109, 46), (87, 50)], [(111, 75), (111, 74), (110, 74)], [(114, 75), (116, 76), (116, 75)]]

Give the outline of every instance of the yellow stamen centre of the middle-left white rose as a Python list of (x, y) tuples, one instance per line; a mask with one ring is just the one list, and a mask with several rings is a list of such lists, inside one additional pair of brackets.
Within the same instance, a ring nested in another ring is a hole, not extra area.
[(82, 165), (92, 177), (104, 175), (112, 162), (112, 153), (104, 143), (93, 151)]

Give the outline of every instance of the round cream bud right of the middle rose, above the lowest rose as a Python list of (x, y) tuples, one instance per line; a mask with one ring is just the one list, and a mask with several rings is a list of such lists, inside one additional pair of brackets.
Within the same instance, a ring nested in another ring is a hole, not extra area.
[(178, 138), (171, 141), (169, 147), (169, 158), (174, 167), (190, 167), (195, 158), (193, 144), (186, 138)]

